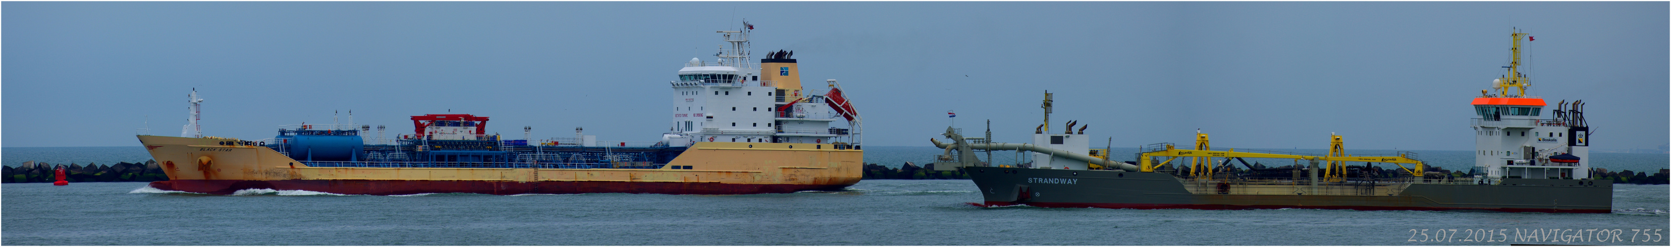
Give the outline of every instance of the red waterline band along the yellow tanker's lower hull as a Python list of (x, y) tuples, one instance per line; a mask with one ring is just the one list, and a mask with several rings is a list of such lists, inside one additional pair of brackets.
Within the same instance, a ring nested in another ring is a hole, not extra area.
[(159, 180), (159, 190), (231, 195), (247, 189), (309, 190), (344, 195), (413, 195), (413, 194), (790, 194), (802, 190), (841, 190), (847, 185), (797, 184), (719, 184), (719, 182), (511, 182), (511, 180)]

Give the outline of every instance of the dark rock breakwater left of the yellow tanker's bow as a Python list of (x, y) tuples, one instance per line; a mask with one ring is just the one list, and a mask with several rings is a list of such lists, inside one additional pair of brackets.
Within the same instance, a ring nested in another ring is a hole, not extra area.
[[(43, 162), (23, 162), (18, 167), (0, 169), (0, 182), (55, 182), (57, 165)], [(67, 182), (152, 182), (152, 180), (169, 180), (167, 174), (162, 174), (162, 167), (155, 160), (147, 160), (144, 164), (120, 162), (114, 165), (97, 165), (80, 164), (65, 165), (63, 170)]]

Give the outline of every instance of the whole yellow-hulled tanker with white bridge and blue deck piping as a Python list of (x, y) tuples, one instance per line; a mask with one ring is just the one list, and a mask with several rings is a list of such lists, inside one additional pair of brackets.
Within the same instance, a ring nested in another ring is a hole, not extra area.
[(282, 125), (259, 140), (202, 137), (196, 90), (182, 137), (139, 142), (169, 175), (150, 187), (199, 194), (785, 194), (857, 184), (862, 118), (836, 80), (802, 88), (790, 52), (754, 63), (744, 50), (754, 27), (744, 27), (720, 32), (732, 47), (719, 60), (692, 58), (670, 82), (672, 132), (653, 144), (600, 142), (582, 129), (571, 139), (501, 140), (486, 134), (488, 117), (466, 113), (414, 115), (413, 132), (394, 139), (383, 139), (383, 125), (371, 137), (354, 124)]

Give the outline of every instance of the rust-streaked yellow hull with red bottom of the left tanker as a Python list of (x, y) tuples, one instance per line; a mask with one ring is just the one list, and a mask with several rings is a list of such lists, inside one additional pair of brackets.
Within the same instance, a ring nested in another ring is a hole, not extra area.
[(199, 194), (785, 194), (857, 184), (864, 160), (861, 150), (820, 144), (698, 142), (662, 169), (307, 167), (272, 149), (221, 145), (222, 139), (139, 140), (169, 174), (152, 187)]

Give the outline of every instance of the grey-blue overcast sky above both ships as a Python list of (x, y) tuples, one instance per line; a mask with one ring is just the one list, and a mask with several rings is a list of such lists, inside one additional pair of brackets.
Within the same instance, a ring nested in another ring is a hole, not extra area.
[[(1058, 129), (1116, 147), (1472, 150), (1469, 100), (1519, 27), (1531, 95), (1589, 102), (1596, 149), (1668, 144), (1666, 2), (5, 2), (3, 147), (139, 145), (282, 124), (409, 132), (409, 115), (490, 132), (658, 140), (667, 82), (755, 25), (755, 58), (795, 50), (837, 78), (866, 145), (947, 125), (1028, 142), (1044, 90)], [(1547, 112), (1547, 108), (1546, 108)], [(1546, 113), (1547, 115), (1547, 113)], [(344, 113), (346, 118), (346, 113)]]

